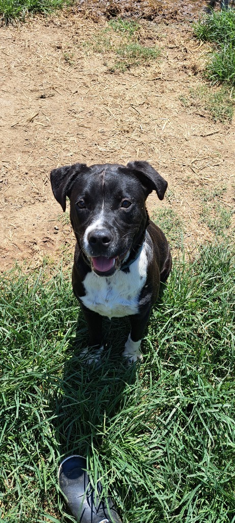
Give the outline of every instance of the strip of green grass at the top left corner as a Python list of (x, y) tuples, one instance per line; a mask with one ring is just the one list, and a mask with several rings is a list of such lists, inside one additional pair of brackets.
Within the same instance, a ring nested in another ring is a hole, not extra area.
[(4, 24), (14, 19), (24, 20), (29, 13), (50, 14), (69, 5), (69, 0), (0, 0), (0, 15)]

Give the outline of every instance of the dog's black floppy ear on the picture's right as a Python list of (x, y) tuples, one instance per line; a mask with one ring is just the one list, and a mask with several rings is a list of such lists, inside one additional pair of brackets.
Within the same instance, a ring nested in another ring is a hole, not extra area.
[(163, 200), (168, 183), (160, 176), (154, 167), (152, 167), (148, 162), (138, 161), (128, 162), (126, 167), (132, 169), (135, 176), (142, 183), (146, 196), (155, 190), (159, 200)]

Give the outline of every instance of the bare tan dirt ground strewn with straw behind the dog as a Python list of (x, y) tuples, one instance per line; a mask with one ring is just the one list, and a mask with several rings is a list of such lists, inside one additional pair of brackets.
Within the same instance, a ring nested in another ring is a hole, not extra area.
[(211, 236), (200, 219), (204, 189), (225, 186), (218, 201), (235, 206), (234, 121), (213, 123), (180, 100), (202, 82), (205, 44), (188, 22), (145, 21), (142, 39), (161, 48), (160, 58), (112, 74), (110, 56), (83, 44), (104, 26), (70, 11), (0, 29), (2, 270), (72, 253), (68, 215), (50, 186), (56, 166), (149, 161), (169, 191), (163, 202), (150, 195), (148, 209), (177, 212), (188, 248)]

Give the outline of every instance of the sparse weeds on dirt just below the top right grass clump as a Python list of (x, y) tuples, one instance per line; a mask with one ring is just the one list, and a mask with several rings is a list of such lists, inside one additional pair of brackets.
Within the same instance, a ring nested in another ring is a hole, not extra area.
[(227, 85), (218, 88), (214, 93), (211, 87), (201, 85), (190, 89), (189, 96), (180, 96), (184, 107), (200, 107), (209, 113), (214, 122), (232, 121), (235, 105), (233, 89)]

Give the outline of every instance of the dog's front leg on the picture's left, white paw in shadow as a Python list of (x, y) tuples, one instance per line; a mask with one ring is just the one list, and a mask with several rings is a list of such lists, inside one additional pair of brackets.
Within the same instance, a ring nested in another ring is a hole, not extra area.
[[(93, 357), (90, 357), (89, 363), (92, 361), (98, 361), (100, 359), (103, 350), (103, 338), (102, 338), (102, 316), (97, 312), (90, 311), (84, 305), (81, 305), (85, 320), (88, 326), (89, 333), (89, 347), (95, 349)], [(89, 347), (81, 352), (81, 355), (87, 354)]]

